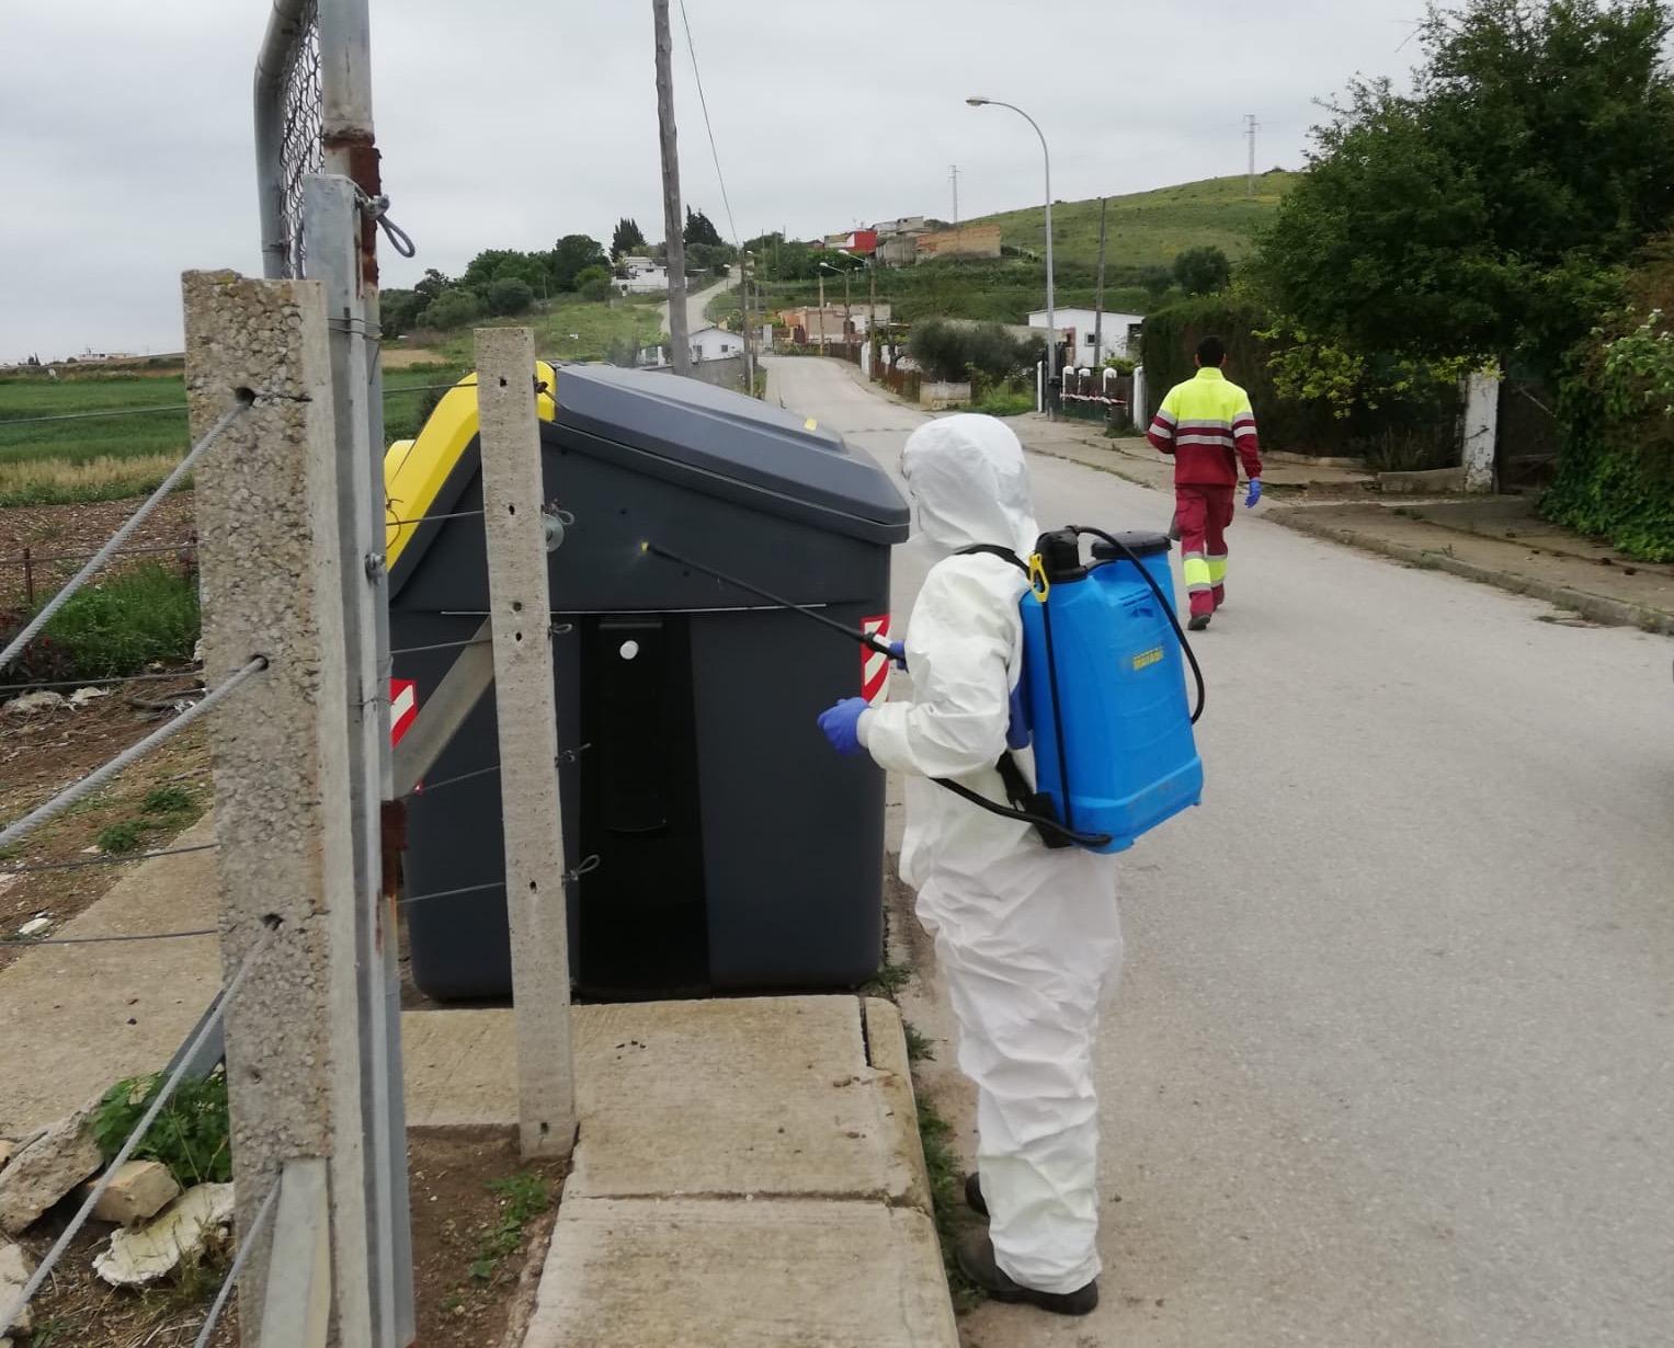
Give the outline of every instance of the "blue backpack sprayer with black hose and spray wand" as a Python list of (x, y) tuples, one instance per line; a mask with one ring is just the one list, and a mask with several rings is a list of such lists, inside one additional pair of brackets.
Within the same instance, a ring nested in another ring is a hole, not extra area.
[[(1091, 562), (1081, 559), (1083, 537), (1093, 539)], [(877, 637), (815, 609), (656, 544), (641, 547), (894, 654)], [(1204, 764), (1192, 726), (1204, 714), (1204, 672), (1173, 612), (1168, 540), (1160, 534), (1070, 525), (1043, 534), (1028, 562), (993, 544), (964, 552), (1001, 557), (1028, 575), (1021, 697), (1035, 743), (1036, 786), (1030, 788), (1011, 758), (1011, 749), (1024, 748), (1028, 738), (1011, 738), (996, 763), (1009, 806), (956, 781), (937, 784), (994, 814), (1033, 825), (1050, 848), (1100, 853), (1125, 851), (1140, 835), (1199, 804)], [(1197, 681), (1195, 711), (1187, 711), (1182, 654)]]

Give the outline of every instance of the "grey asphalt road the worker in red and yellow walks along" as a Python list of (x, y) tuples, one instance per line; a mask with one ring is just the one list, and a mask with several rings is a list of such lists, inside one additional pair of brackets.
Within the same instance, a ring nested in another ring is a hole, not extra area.
[[(922, 420), (773, 378), (891, 468)], [(1031, 467), (1043, 523), (1167, 523)], [(1259, 512), (1230, 554), (1204, 808), (1123, 865), (1103, 1305), (966, 1341), (1674, 1343), (1674, 642)]]

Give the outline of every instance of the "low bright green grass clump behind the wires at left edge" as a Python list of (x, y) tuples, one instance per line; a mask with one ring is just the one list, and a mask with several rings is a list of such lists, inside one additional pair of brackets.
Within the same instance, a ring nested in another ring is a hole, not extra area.
[[(0, 614), (0, 639), (22, 625), (22, 614)], [(191, 659), (198, 631), (196, 572), (144, 562), (72, 597), (15, 672), (20, 681), (139, 674), (152, 661)]]

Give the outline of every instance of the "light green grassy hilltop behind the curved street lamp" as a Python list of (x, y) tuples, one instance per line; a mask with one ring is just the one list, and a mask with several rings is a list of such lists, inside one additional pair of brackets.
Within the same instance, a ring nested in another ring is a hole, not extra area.
[[(1187, 248), (1214, 244), (1234, 261), (1250, 249), (1252, 236), (1301, 174), (1274, 169), (1247, 181), (1210, 177), (1153, 192), (1110, 197), (1108, 258), (1113, 266), (1168, 266)], [(1045, 244), (1043, 209), (1004, 211), (968, 224), (999, 224), (1001, 243), (1040, 251)], [(1051, 207), (1056, 263), (1098, 261), (1098, 199), (1055, 201)]]

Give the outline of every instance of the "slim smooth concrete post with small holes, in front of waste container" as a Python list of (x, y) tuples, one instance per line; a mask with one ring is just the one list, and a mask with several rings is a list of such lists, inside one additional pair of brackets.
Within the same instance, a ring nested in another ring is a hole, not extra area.
[(569, 1156), (576, 1141), (569, 917), (534, 334), (527, 328), (479, 328), (475, 338), (506, 915), (512, 937), (517, 1129), (526, 1157)]

